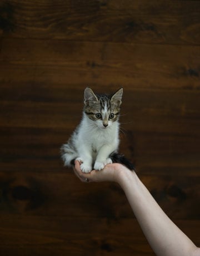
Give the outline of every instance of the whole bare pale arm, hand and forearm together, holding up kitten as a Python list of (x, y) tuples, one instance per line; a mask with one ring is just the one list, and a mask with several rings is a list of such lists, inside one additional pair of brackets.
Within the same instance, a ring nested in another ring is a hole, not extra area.
[(108, 164), (101, 171), (84, 174), (76, 161), (74, 173), (83, 182), (118, 183), (157, 256), (200, 256), (200, 248), (168, 218), (134, 171), (121, 164)]

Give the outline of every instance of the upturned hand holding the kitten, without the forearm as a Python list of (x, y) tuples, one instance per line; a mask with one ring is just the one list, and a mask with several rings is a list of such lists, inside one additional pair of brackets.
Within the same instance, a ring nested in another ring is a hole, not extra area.
[[(79, 161), (75, 161), (74, 174), (82, 182), (119, 181), (119, 176), (123, 169), (127, 169), (121, 164), (107, 164), (101, 171), (92, 170), (91, 173), (82, 173)], [(128, 169), (127, 169), (128, 170)]]

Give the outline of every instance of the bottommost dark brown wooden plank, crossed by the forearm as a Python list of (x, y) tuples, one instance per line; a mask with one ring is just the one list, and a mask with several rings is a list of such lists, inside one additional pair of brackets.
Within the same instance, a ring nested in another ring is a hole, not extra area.
[[(1, 215), (2, 255), (154, 255), (134, 219)], [(199, 221), (176, 224), (200, 244)]]

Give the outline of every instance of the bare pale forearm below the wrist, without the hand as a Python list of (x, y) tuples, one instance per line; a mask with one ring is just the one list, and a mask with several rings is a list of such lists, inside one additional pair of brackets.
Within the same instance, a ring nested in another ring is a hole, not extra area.
[(196, 246), (163, 212), (136, 173), (121, 172), (118, 183), (156, 255), (193, 255)]

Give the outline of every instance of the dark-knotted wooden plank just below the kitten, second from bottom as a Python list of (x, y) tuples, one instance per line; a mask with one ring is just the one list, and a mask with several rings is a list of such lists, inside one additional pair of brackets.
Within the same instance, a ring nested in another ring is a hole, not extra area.
[[(199, 176), (138, 175), (171, 218), (199, 219)], [(133, 217), (117, 184), (81, 183), (72, 170), (1, 171), (0, 184), (0, 210), (6, 215), (95, 216), (108, 220)]]

